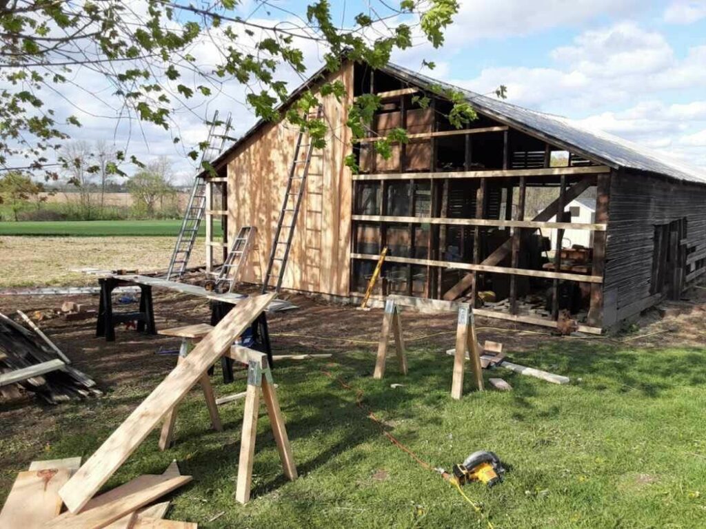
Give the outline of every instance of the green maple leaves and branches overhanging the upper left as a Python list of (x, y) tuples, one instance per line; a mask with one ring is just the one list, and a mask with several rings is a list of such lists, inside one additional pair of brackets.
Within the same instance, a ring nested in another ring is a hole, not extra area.
[[(241, 1), (215, 0), (0, 0), (0, 166), (18, 157), (47, 178), (56, 178), (49, 158), (61, 150), (73, 130), (81, 126), (75, 114), (59, 115), (50, 98), (64, 97), (72, 87), (90, 91), (78, 83), (77, 73), (100, 74), (114, 87), (122, 107), (118, 117), (144, 121), (174, 133), (174, 114), (189, 102), (211, 97), (232, 80), (246, 87), (245, 99), (256, 116), (279, 117), (277, 105), (289, 87), (277, 75), (285, 65), (294, 72), (306, 71), (304, 44), (315, 44), (327, 68), (335, 71), (342, 59), (378, 68), (388, 63), (395, 49), (420, 42), (443, 44), (445, 28), (458, 11), (457, 0), (397, 0), (369, 2), (354, 23), (337, 23), (329, 0), (312, 1), (304, 16), (286, 11), (270, 0), (255, 0), (258, 8), (279, 10), (287, 20), (263, 25), (237, 16)], [(197, 61), (195, 47), (217, 42), (215, 65)], [(433, 63), (424, 62), (433, 67)], [(321, 87), (319, 95), (342, 97), (340, 83)], [(95, 96), (97, 97), (97, 96)], [(81, 102), (69, 101), (82, 109)], [(305, 92), (289, 111), (292, 123), (309, 129), (318, 147), (325, 143), (323, 120), (303, 121), (301, 116), (318, 104), (318, 96)], [(456, 109), (456, 107), (458, 107)], [(465, 102), (458, 101), (450, 118), (463, 123), (473, 117)], [(362, 99), (351, 109), (349, 126), (354, 138), (365, 135), (373, 98)], [(76, 113), (78, 114), (78, 112)], [(397, 132), (397, 140), (402, 139)], [(198, 158), (203, 144), (188, 154)], [(389, 149), (378, 142), (381, 152)], [(116, 162), (129, 160), (141, 166), (128, 150), (116, 153)], [(71, 166), (71, 159), (60, 159)], [(89, 168), (90, 169), (90, 168)], [(122, 174), (119, 164), (104, 170)]]

